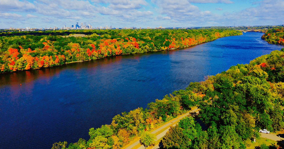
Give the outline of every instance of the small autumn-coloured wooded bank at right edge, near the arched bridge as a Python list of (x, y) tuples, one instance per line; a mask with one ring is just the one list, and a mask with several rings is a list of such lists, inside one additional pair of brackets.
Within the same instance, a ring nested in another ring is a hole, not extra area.
[(262, 39), (272, 44), (284, 45), (284, 28), (271, 28), (262, 35)]

